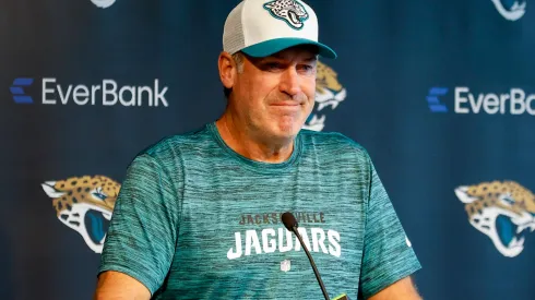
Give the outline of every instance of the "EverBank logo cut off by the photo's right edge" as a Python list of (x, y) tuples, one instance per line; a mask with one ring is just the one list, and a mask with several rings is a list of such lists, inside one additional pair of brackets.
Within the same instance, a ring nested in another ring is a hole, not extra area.
[[(427, 103), (431, 112), (449, 112), (448, 100), (450, 88), (431, 87), (428, 92)], [(535, 94), (523, 88), (512, 87), (502, 93), (473, 92), (467, 86), (453, 88), (454, 113), (485, 113), (485, 115), (532, 115), (535, 116)]]

